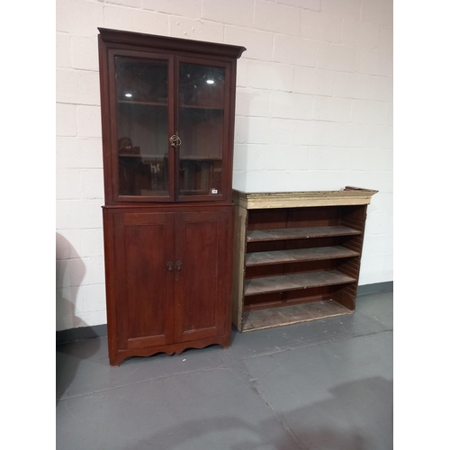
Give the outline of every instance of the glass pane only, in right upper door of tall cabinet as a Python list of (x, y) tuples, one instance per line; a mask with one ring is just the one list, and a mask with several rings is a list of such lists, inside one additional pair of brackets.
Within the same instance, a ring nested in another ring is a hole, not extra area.
[(180, 64), (179, 193), (222, 193), (225, 68)]

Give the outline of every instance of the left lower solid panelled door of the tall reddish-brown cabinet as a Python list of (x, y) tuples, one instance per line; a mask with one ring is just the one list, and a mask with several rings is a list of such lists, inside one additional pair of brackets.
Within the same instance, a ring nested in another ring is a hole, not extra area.
[(114, 216), (118, 350), (170, 344), (174, 340), (173, 214)]

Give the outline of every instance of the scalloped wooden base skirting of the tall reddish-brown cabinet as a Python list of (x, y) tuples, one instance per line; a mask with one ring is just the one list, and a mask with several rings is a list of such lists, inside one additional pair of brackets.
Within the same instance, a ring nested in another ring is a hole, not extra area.
[(180, 342), (177, 344), (169, 344), (166, 346), (136, 348), (132, 350), (119, 350), (117, 353), (110, 354), (110, 365), (119, 367), (121, 362), (132, 356), (152, 356), (157, 353), (166, 353), (166, 355), (180, 354), (188, 348), (204, 348), (212, 345), (219, 345), (223, 348), (229, 347), (229, 336), (221, 336), (216, 338), (193, 340), (190, 342)]

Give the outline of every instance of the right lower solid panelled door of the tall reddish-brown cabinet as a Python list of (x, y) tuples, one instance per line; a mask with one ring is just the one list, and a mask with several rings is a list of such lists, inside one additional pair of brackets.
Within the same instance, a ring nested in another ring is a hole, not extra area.
[(175, 341), (229, 331), (228, 211), (175, 214)]

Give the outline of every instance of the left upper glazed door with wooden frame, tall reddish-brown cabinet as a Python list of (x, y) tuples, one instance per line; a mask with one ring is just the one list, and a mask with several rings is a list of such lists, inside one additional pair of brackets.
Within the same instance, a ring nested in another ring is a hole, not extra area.
[[(173, 61), (145, 51), (110, 52), (113, 198), (173, 202)], [(105, 119), (106, 121), (106, 119)], [(105, 166), (105, 168), (108, 168)]]

